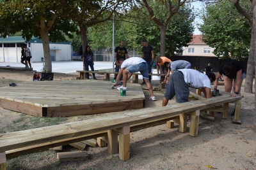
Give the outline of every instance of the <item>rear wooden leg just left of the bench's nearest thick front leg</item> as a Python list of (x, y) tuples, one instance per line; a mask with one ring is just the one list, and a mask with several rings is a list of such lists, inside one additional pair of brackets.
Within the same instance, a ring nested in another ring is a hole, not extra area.
[(114, 130), (108, 130), (108, 153), (118, 153), (118, 132)]

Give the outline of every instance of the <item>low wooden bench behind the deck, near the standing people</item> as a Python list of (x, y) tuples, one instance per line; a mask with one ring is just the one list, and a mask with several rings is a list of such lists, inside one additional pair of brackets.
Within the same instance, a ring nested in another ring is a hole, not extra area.
[[(110, 74), (118, 74), (118, 72), (108, 72), (108, 71), (76, 71), (78, 73), (78, 77), (80, 80), (84, 80), (85, 73), (97, 73), (97, 74), (104, 74), (104, 79), (105, 81), (110, 81)], [(131, 83), (138, 83), (139, 82), (139, 75), (141, 75), (140, 73), (132, 73), (132, 80)], [(152, 74), (149, 73), (148, 75), (150, 76), (157, 76), (157, 74)], [(165, 74), (160, 74), (160, 80), (161, 82), (164, 81), (165, 78)], [(164, 89), (165, 88), (165, 83), (161, 83), (160, 85), (160, 89)]]

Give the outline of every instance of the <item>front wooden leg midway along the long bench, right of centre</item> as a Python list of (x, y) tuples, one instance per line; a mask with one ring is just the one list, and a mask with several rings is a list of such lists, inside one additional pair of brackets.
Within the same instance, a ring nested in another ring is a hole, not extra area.
[(198, 124), (199, 124), (200, 110), (191, 111), (191, 112), (189, 112), (189, 115), (191, 115), (189, 135), (197, 136), (198, 135)]

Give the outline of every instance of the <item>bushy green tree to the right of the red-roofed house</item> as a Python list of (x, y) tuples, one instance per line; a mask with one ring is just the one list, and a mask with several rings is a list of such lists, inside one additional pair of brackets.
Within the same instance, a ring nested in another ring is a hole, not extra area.
[(209, 4), (201, 18), (204, 24), (198, 29), (204, 42), (215, 48), (212, 53), (223, 59), (248, 57), (252, 27), (228, 0)]

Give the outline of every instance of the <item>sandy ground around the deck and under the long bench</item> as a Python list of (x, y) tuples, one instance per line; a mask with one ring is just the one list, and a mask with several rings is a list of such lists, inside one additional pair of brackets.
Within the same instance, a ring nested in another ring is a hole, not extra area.
[[(0, 69), (0, 87), (12, 82), (32, 81), (32, 76), (32, 71)], [(79, 81), (76, 76), (76, 73), (54, 73), (54, 81)], [(159, 85), (159, 81), (152, 83), (154, 87)], [(219, 86), (218, 89), (223, 90), (223, 87)], [(149, 92), (143, 92), (148, 98)], [(146, 100), (145, 109), (162, 105), (163, 94), (154, 91), (154, 95), (157, 101)], [(242, 95), (241, 125), (232, 124), (230, 113), (234, 110), (234, 104), (230, 104), (227, 119), (223, 119), (221, 113), (215, 113), (214, 120), (200, 117), (196, 137), (189, 136), (189, 128), (187, 132), (180, 133), (177, 131), (178, 125), (173, 129), (168, 129), (164, 124), (141, 129), (131, 133), (131, 159), (125, 162), (118, 159), (118, 154), (109, 154), (106, 146), (86, 146), (85, 151), (90, 155), (88, 160), (58, 162), (56, 151), (49, 150), (10, 159), (7, 169), (256, 169), (256, 136), (252, 131), (254, 94)], [(170, 101), (168, 105), (173, 103), (175, 101)], [(61, 123), (99, 116), (68, 117)], [(32, 120), (30, 115), (0, 108), (0, 133), (15, 131), (18, 125)], [(61, 152), (75, 150), (67, 145), (63, 146)]]

